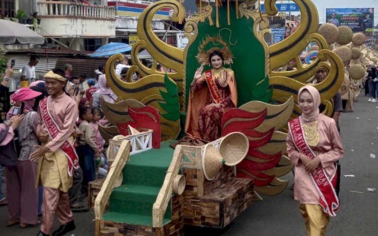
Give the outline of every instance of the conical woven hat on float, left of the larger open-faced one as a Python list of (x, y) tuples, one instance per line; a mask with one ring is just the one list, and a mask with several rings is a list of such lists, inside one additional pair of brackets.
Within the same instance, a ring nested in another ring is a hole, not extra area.
[(202, 170), (205, 178), (209, 181), (213, 180), (222, 168), (224, 161), (222, 155), (213, 144), (206, 144), (202, 153)]

